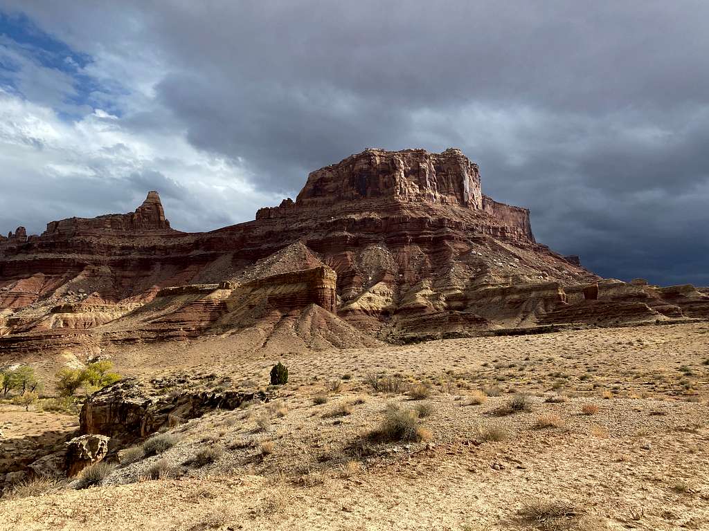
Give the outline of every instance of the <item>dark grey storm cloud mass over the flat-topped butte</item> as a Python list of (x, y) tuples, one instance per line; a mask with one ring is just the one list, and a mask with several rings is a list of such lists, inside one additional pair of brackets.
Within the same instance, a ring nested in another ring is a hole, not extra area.
[(457, 146), (552, 249), (709, 283), (704, 1), (97, 6), (16, 4), (79, 52), (159, 65), (124, 122), (184, 127), (264, 193), (365, 147)]

